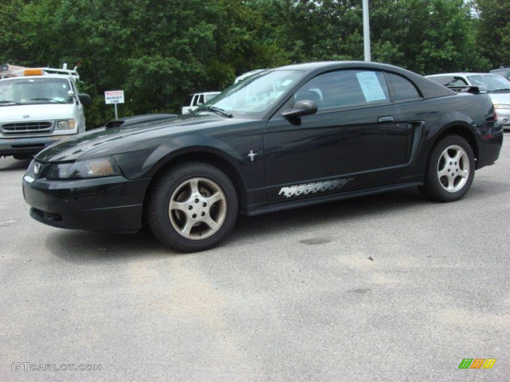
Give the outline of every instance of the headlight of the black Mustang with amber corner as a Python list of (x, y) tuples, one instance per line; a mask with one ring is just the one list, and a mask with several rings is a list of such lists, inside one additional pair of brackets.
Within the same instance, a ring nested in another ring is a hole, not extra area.
[(87, 179), (120, 175), (119, 167), (113, 158), (77, 160), (73, 163), (56, 163), (46, 173), (47, 179)]

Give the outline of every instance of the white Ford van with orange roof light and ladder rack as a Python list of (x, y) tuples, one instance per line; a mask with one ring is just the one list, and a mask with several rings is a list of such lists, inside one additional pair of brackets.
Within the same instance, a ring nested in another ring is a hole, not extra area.
[(30, 158), (85, 131), (76, 70), (0, 65), (0, 157)]

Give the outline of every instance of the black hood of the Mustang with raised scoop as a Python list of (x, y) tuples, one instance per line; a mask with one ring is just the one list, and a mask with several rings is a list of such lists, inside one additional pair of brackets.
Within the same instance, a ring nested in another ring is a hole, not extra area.
[(151, 149), (177, 137), (196, 136), (215, 127), (228, 128), (246, 122), (217, 115), (200, 115), (126, 127), (101, 127), (55, 143), (37, 154), (36, 159), (43, 162), (73, 161)]

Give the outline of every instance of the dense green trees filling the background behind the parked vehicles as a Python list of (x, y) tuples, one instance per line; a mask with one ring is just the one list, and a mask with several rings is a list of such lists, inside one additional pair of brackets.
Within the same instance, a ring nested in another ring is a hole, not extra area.
[[(370, 0), (372, 61), (421, 74), (506, 63), (506, 3)], [(0, 63), (79, 65), (94, 125), (113, 117), (106, 90), (124, 90), (121, 115), (178, 112), (252, 69), (363, 60), (361, 0), (5, 0), (0, 27)]]

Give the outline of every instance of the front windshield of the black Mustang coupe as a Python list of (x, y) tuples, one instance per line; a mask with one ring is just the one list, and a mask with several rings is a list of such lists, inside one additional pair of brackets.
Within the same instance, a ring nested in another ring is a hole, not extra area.
[(199, 107), (195, 113), (215, 110), (223, 112), (225, 116), (260, 117), (303, 75), (304, 72), (296, 70), (265, 71), (231, 86)]

